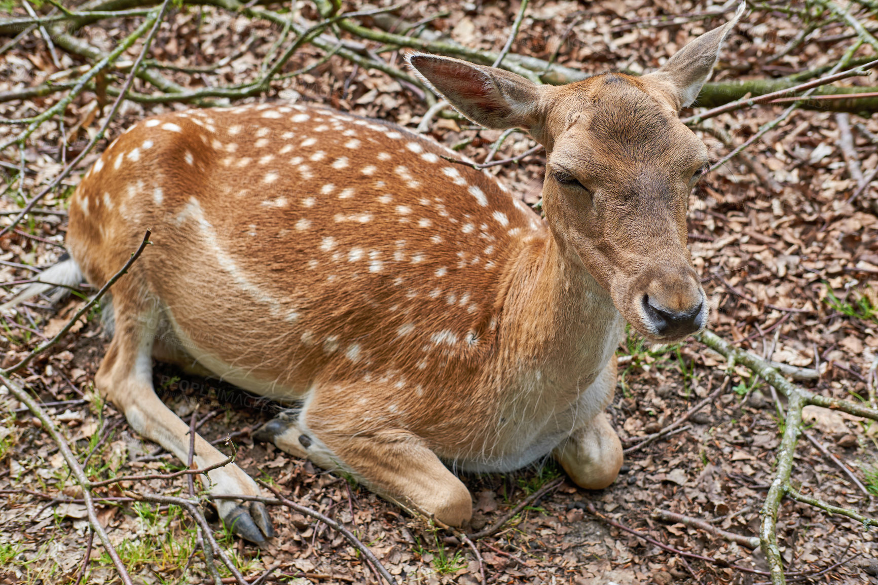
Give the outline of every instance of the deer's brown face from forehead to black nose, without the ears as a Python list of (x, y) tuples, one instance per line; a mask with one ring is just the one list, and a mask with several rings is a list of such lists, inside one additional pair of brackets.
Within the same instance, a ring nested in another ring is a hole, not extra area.
[(702, 329), (708, 307), (686, 213), (707, 149), (648, 82), (608, 74), (564, 94), (547, 120), (543, 209), (555, 240), (644, 336)]

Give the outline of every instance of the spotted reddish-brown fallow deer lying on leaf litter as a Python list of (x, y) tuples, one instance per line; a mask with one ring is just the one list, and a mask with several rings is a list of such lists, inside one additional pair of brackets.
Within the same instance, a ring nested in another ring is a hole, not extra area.
[[(543, 144), (544, 221), (393, 124), (320, 105), (189, 110), (106, 149), (70, 201), (71, 258), (43, 278), (103, 285), (152, 228), (113, 286), (95, 386), (180, 459), (188, 428), (154, 392), (154, 358), (291, 404), (260, 437), (444, 524), (472, 509), (449, 466), (551, 455), (606, 488), (623, 459), (603, 410), (625, 321), (672, 342), (708, 316), (686, 225), (707, 150), (678, 113), (740, 13), (639, 77), (539, 86), (408, 57), (468, 119)], [(196, 438), (196, 465), (222, 459)], [(238, 466), (209, 476), (214, 495), (260, 494)], [(218, 506), (245, 538), (273, 534), (261, 504)]]

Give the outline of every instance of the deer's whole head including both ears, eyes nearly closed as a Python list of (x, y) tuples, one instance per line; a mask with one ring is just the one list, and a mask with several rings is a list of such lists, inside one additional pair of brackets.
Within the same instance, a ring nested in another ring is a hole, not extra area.
[(640, 77), (606, 73), (555, 87), (448, 57), (408, 58), (467, 118), (521, 127), (543, 144), (543, 210), (559, 253), (581, 263), (651, 340), (679, 340), (707, 322), (686, 213), (708, 154), (678, 114), (708, 80), (743, 8)]

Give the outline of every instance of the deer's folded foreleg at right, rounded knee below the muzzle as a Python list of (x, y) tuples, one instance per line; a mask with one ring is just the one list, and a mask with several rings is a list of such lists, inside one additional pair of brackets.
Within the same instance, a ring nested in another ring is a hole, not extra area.
[(609, 424), (603, 408), (615, 389), (615, 358), (587, 389), (587, 399), (599, 402), (597, 415), (573, 430), (555, 451), (555, 459), (580, 488), (603, 489), (615, 481), (622, 467), (623, 452), (619, 436)]

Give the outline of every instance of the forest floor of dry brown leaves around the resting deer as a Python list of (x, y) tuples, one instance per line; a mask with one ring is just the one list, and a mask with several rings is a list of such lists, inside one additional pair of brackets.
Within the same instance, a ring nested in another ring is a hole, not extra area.
[[(517, 8), (505, 2), (477, 6), (421, 1), (407, 4), (400, 12), (417, 21), (448, 11), (428, 27), (472, 47), (499, 50)], [(529, 8), (512, 51), (549, 58), (558, 49), (558, 61), (568, 67), (595, 73), (607, 69), (639, 73), (658, 67), (688, 40), (724, 21), (720, 16), (691, 18), (682, 25), (646, 26), (647, 18), (716, 8), (690, 0), (676, 4), (608, 0), (588, 4), (585, 10), (573, 2), (537, 3)], [(309, 5), (302, 4), (301, 12), (302, 18), (316, 18)], [(630, 22), (636, 19), (641, 20)], [(204, 66), (246, 47), (210, 73), (224, 83), (254, 75), (279, 32), (277, 26), (209, 7), (175, 9), (167, 21), (153, 50), (160, 61), (180, 67)], [(82, 33), (107, 50), (134, 26), (131, 19), (112, 19), (90, 25)], [(723, 51), (716, 79), (778, 77), (819, 68), (838, 61), (850, 45), (848, 30), (830, 25), (819, 40), (807, 41), (781, 59), (768, 59), (800, 26), (795, 14), (785, 12), (763, 11), (745, 17)], [(862, 48), (857, 55), (869, 51)], [(303, 47), (288, 69), (307, 66), (319, 57), (320, 51)], [(80, 62), (66, 53), (61, 55), (64, 60), (65, 67)], [(390, 54), (389, 60), (399, 62), (401, 54)], [(52, 72), (45, 43), (31, 35), (0, 55), (0, 90), (38, 83)], [(187, 87), (214, 81), (214, 77), (185, 72), (169, 72), (169, 76)], [(868, 81), (872, 78), (848, 83), (875, 85)], [(54, 103), (53, 99), (0, 103), (0, 117), (33, 115)], [(276, 83), (267, 96), (244, 101), (277, 99), (318, 101), (413, 128), (426, 109), (396, 80), (376, 70), (355, 68), (337, 57), (306, 75)], [(63, 148), (54, 126), (34, 134), (26, 152), (25, 191), (46, 182), (61, 169), (62, 160), (69, 160), (76, 148), (83, 147), (100, 121), (95, 115), (96, 100), (95, 94), (85, 92), (68, 108), (68, 144)], [(187, 107), (126, 102), (110, 126), (108, 141), (138, 119)], [(776, 118), (781, 107), (747, 108), (712, 123), (740, 143), (759, 125)], [(867, 173), (878, 165), (874, 138), (878, 120), (852, 115), (850, 122), (853, 148), (862, 172)], [(0, 137), (6, 137), (10, 127), (0, 126)], [(500, 134), (454, 119), (435, 120), (431, 128), (429, 134), (435, 140), (476, 161), (485, 158)], [(878, 194), (867, 189), (847, 202), (856, 182), (851, 162), (838, 146), (842, 132), (832, 112), (796, 111), (745, 155), (702, 179), (690, 201), (690, 248), (710, 299), (711, 329), (760, 356), (770, 352), (774, 361), (817, 368), (819, 379), (800, 382), (816, 393), (867, 401), (869, 369), (874, 368), (878, 355)], [(697, 134), (709, 146), (711, 157), (728, 153), (714, 135)], [(83, 172), (108, 141), (86, 159)], [(527, 136), (514, 134), (497, 158), (521, 154), (534, 144)], [(494, 167), (491, 172), (533, 205), (539, 201), (543, 181), (541, 156)], [(14, 169), (17, 162), (10, 164)], [(13, 170), (4, 172), (8, 180)], [(49, 195), (41, 207), (62, 212), (81, 175), (69, 177), (68, 188)], [(20, 203), (15, 190), (8, 191), (0, 200), (0, 211), (15, 210)], [(4, 221), (8, 221), (5, 216), (0, 225)], [(65, 229), (62, 213), (47, 215), (0, 239), (0, 282), (25, 280), (32, 276), (29, 267), (54, 264), (63, 253)], [(11, 297), (13, 288), (5, 286), (4, 300)], [(0, 316), (4, 321), (2, 366), (16, 363), (37, 343), (53, 336), (82, 305), (83, 300), (71, 298), (51, 307), (43, 299), (26, 305), (14, 317)], [(184, 463), (156, 451), (155, 444), (143, 443), (112, 405), (97, 399), (93, 376), (108, 342), (98, 312), (91, 312), (61, 343), (32, 362), (23, 372), (25, 385), (47, 404), (47, 412), (64, 428), (81, 459), (103, 439), (90, 459), (92, 476), (184, 468)], [(630, 335), (620, 345), (618, 356), (623, 363), (610, 414), (625, 446), (634, 443), (630, 439), (679, 419), (715, 390), (724, 376), (723, 359), (694, 341), (656, 354)], [(166, 365), (156, 366), (154, 382), (162, 399), (179, 415), (188, 419), (196, 408), (199, 419), (211, 415), (200, 428), (208, 440), (237, 433), (233, 440), (243, 469), (254, 477), (270, 479), (296, 502), (349, 526), (400, 580), (479, 582), (479, 563), (471, 549), (450, 532), (431, 528), (364, 488), (276, 451), (272, 445), (254, 443), (249, 431), (269, 420), (276, 408), (253, 401), (218, 380), (192, 377)], [(58, 404), (52, 406), (54, 402)], [(89, 527), (84, 506), (64, 500), (81, 492), (56, 445), (27, 409), (5, 394), (5, 388), (0, 388), (0, 403), (4, 404), (0, 411), (0, 583), (74, 582), (83, 565)], [(690, 417), (684, 430), (626, 455), (623, 473), (613, 486), (590, 492), (561, 480), (500, 531), (480, 540), (477, 545), (487, 580), (552, 585), (766, 581), (764, 575), (684, 560), (661, 550), (601, 521), (587, 510), (587, 503), (594, 503), (616, 523), (643, 531), (674, 549), (765, 570), (758, 549), (685, 524), (662, 522), (651, 517), (651, 512), (665, 509), (701, 518), (726, 531), (756, 535), (779, 444), (779, 420), (771, 388), (738, 366), (728, 391)], [(794, 485), (827, 502), (874, 516), (878, 425), (816, 407), (806, 408), (806, 421), (811, 436), (848, 466), (869, 494), (804, 439), (796, 451)], [(228, 451), (228, 447), (221, 448)], [(472, 527), (478, 530), (491, 524), (527, 495), (563, 477), (551, 461), (507, 475), (464, 475), (475, 502)], [(124, 496), (126, 490), (142, 487), (169, 494), (180, 492), (185, 485), (184, 478), (148, 480), (102, 493)], [(220, 543), (245, 576), (252, 578), (277, 565), (271, 579), (286, 574), (291, 575), (291, 582), (376, 581), (355, 549), (335, 531), (286, 509), (270, 511), (278, 536), (259, 547), (213, 524)], [(195, 530), (191, 518), (180, 509), (108, 502), (99, 507), (99, 516), (138, 582), (208, 580), (199, 556), (187, 564), (195, 546)], [(874, 582), (869, 575), (878, 574), (874, 535), (852, 520), (785, 501), (778, 540), (790, 570), (818, 571), (837, 565), (811, 582)], [(118, 582), (100, 546), (91, 551), (83, 582)]]

